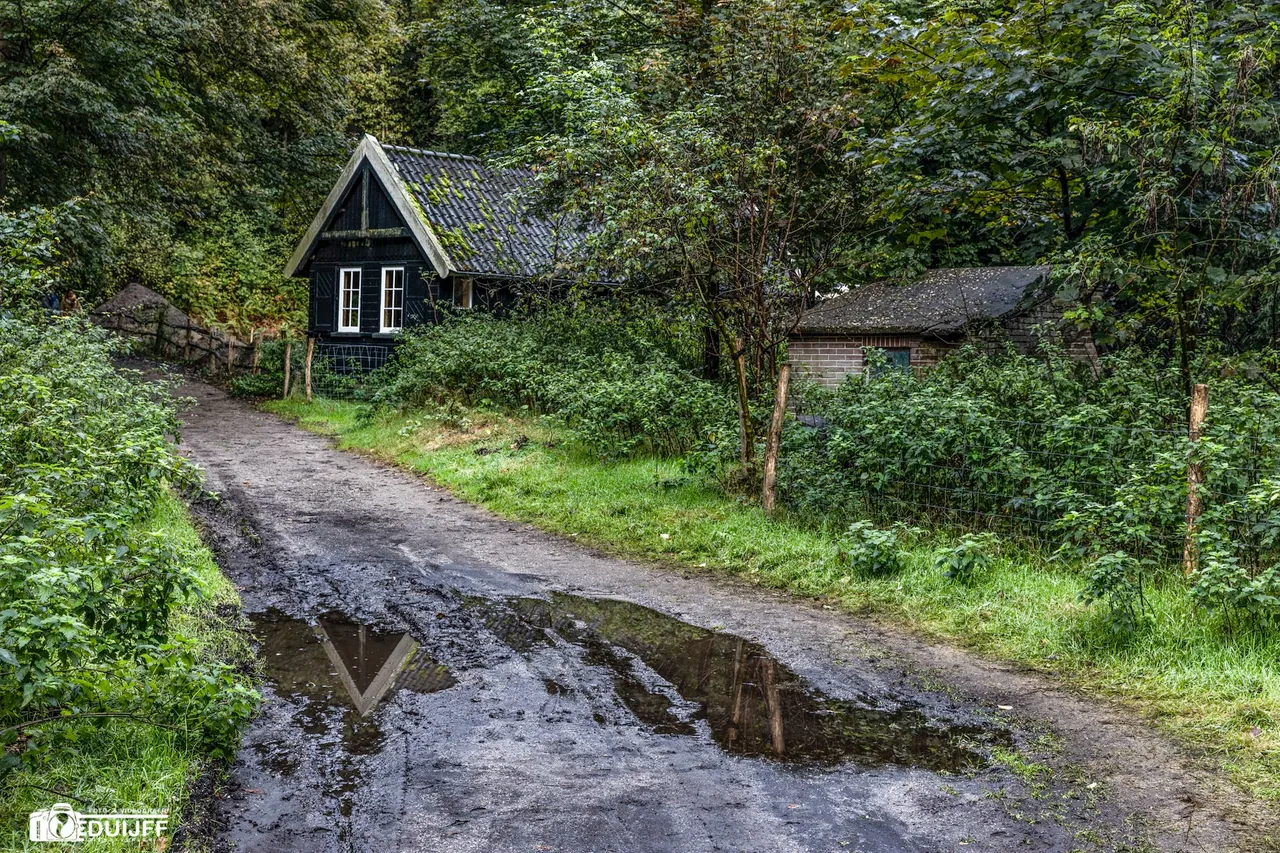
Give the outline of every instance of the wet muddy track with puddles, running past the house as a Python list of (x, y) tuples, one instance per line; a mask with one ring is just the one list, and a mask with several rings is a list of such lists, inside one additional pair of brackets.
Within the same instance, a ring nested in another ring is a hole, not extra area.
[(214, 849), (1266, 849), (1239, 792), (1042, 678), (602, 556), (182, 393), (268, 676)]

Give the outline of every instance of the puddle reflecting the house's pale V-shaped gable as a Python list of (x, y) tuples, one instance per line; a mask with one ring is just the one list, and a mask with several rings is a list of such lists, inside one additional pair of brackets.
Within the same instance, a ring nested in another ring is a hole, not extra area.
[[(434, 693), (453, 686), (448, 669), (406, 633), (381, 631), (342, 613), (315, 622), (278, 610), (250, 616), (261, 642), (266, 678), (282, 697), (301, 699), (298, 726), (342, 743), (349, 754), (374, 754), (383, 733), (372, 712), (396, 690)], [(293, 770), (285, 752), (264, 756), (280, 774)]]

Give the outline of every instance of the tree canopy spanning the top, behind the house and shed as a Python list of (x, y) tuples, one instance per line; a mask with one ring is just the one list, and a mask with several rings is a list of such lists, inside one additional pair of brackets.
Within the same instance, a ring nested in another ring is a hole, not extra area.
[(1188, 364), (1280, 338), (1276, 3), (0, 0), (0, 200), (59, 211), (91, 295), (296, 321), (280, 260), (372, 132), (531, 163), (584, 274), (753, 370), (814, 293), (937, 265), (1052, 263), (1100, 339)]

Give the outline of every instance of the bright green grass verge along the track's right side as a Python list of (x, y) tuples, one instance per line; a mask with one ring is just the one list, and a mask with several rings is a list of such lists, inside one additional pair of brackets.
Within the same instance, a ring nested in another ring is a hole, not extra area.
[[(767, 519), (669, 460), (600, 465), (545, 424), (476, 411), (447, 420), (381, 412), (366, 421), (357, 405), (297, 398), (265, 407), (579, 542), (823, 597), (1050, 672), (1126, 703), (1254, 795), (1280, 799), (1280, 638), (1228, 635), (1179, 583), (1149, 590), (1147, 630), (1119, 640), (1079, 603), (1082, 579), (1070, 566), (1011, 543), (970, 585), (934, 567), (941, 533), (909, 542), (901, 573), (856, 578), (831, 532)], [(512, 450), (518, 434), (532, 441)], [(481, 447), (494, 452), (476, 455)]]

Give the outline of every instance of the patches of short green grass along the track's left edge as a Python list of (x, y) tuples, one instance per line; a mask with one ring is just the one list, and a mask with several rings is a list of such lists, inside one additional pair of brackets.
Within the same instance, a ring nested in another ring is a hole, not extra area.
[[(215, 612), (220, 605), (232, 605), (238, 611), (239, 596), (201, 543), (182, 502), (165, 494), (145, 532), (160, 533), (182, 548), (205, 588), (202, 601), (173, 613), (173, 631), (192, 638), (198, 654), (252, 660), (247, 638)], [(0, 786), (0, 824), (8, 827), (0, 836), (0, 849), (95, 853), (148, 849), (140, 847), (138, 839), (32, 844), (27, 840), (27, 816), (33, 809), (65, 802), (93, 813), (168, 811), (175, 824), (202, 766), (202, 756), (184, 747), (173, 731), (129, 720), (67, 724), (49, 752), (14, 771)], [(170, 833), (173, 829), (170, 825)]]

